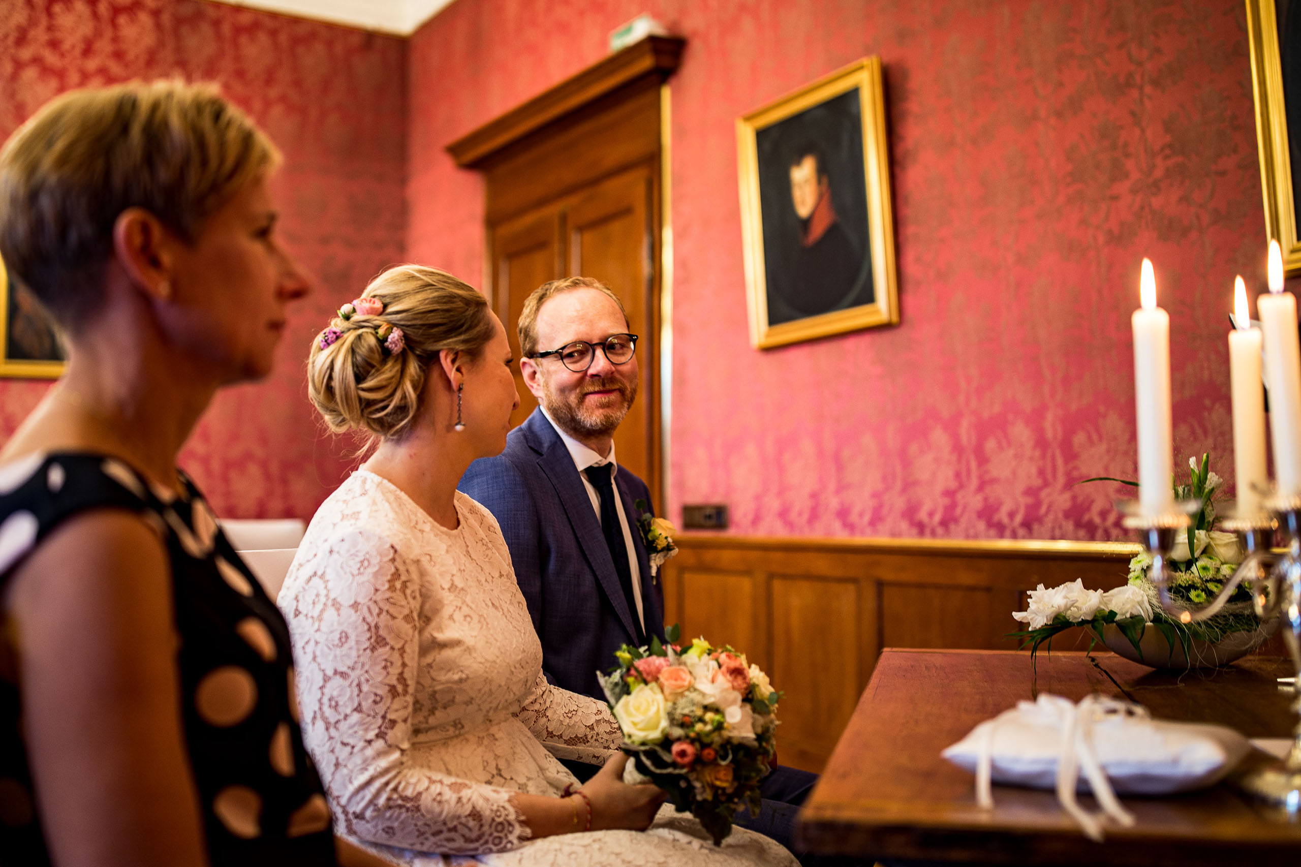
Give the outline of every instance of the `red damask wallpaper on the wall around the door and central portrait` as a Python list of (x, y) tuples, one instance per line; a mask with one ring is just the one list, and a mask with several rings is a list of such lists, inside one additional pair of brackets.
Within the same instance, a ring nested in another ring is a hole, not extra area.
[[(667, 513), (771, 535), (1121, 538), (1129, 314), (1153, 259), (1176, 453), (1231, 478), (1235, 273), (1263, 289), (1241, 0), (458, 0), (412, 38), (409, 254), (476, 279), (481, 187), (444, 146), (649, 12), (673, 79)], [(736, 116), (885, 64), (903, 323), (749, 348)]]

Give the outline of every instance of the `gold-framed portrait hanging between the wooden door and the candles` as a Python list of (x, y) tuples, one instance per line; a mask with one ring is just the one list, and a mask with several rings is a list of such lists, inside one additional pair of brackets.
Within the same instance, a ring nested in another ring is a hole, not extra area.
[[(738, 118), (736, 154), (751, 344), (771, 349), (898, 324), (881, 59), (864, 57)], [(801, 178), (816, 184), (803, 198)], [(826, 229), (826, 213), (842, 228)]]

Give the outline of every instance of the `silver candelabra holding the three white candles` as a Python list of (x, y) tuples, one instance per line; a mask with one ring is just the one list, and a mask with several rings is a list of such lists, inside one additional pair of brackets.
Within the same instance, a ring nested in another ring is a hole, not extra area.
[[(1267, 499), (1267, 513), (1237, 516), (1220, 525), (1237, 534), (1246, 556), (1215, 599), (1193, 607), (1171, 595), (1168, 564), (1177, 534), (1188, 531), (1190, 514), (1198, 508), (1201, 501), (1193, 500), (1179, 502), (1158, 516), (1129, 512), (1125, 517), (1125, 526), (1138, 532), (1140, 542), (1151, 556), (1149, 577), (1157, 587), (1162, 608), (1180, 622), (1193, 624), (1214, 616), (1239, 586), (1245, 585), (1262, 622), (1275, 614), (1281, 616), (1283, 639), (1292, 656), (1293, 672), (1298, 676), (1293, 681), (1297, 698), (1292, 709), (1301, 715), (1301, 496)], [(1285, 542), (1285, 553), (1275, 553), (1275, 542)], [(1249, 794), (1280, 805), (1289, 812), (1301, 810), (1301, 722), (1281, 763), (1250, 771), (1236, 782)]]

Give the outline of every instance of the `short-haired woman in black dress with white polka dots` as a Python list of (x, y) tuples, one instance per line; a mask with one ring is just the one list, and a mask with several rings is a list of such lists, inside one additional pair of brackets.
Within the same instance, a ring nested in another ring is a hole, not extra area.
[(0, 254), (68, 348), (0, 452), (7, 867), (336, 863), (289, 630), (177, 469), (308, 290), (277, 160), (180, 82), (64, 94), (0, 151)]

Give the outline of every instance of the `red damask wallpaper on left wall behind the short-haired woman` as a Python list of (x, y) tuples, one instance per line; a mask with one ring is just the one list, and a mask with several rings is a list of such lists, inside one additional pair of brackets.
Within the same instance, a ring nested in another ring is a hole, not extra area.
[[(198, 0), (0, 1), (0, 139), (51, 96), (182, 76), (217, 81), (285, 155), (284, 237), (315, 276), (276, 372), (228, 389), (181, 462), (226, 517), (310, 518), (350, 463), (307, 404), (312, 335), (403, 259), (406, 40)], [(0, 436), (47, 383), (0, 380)]]

